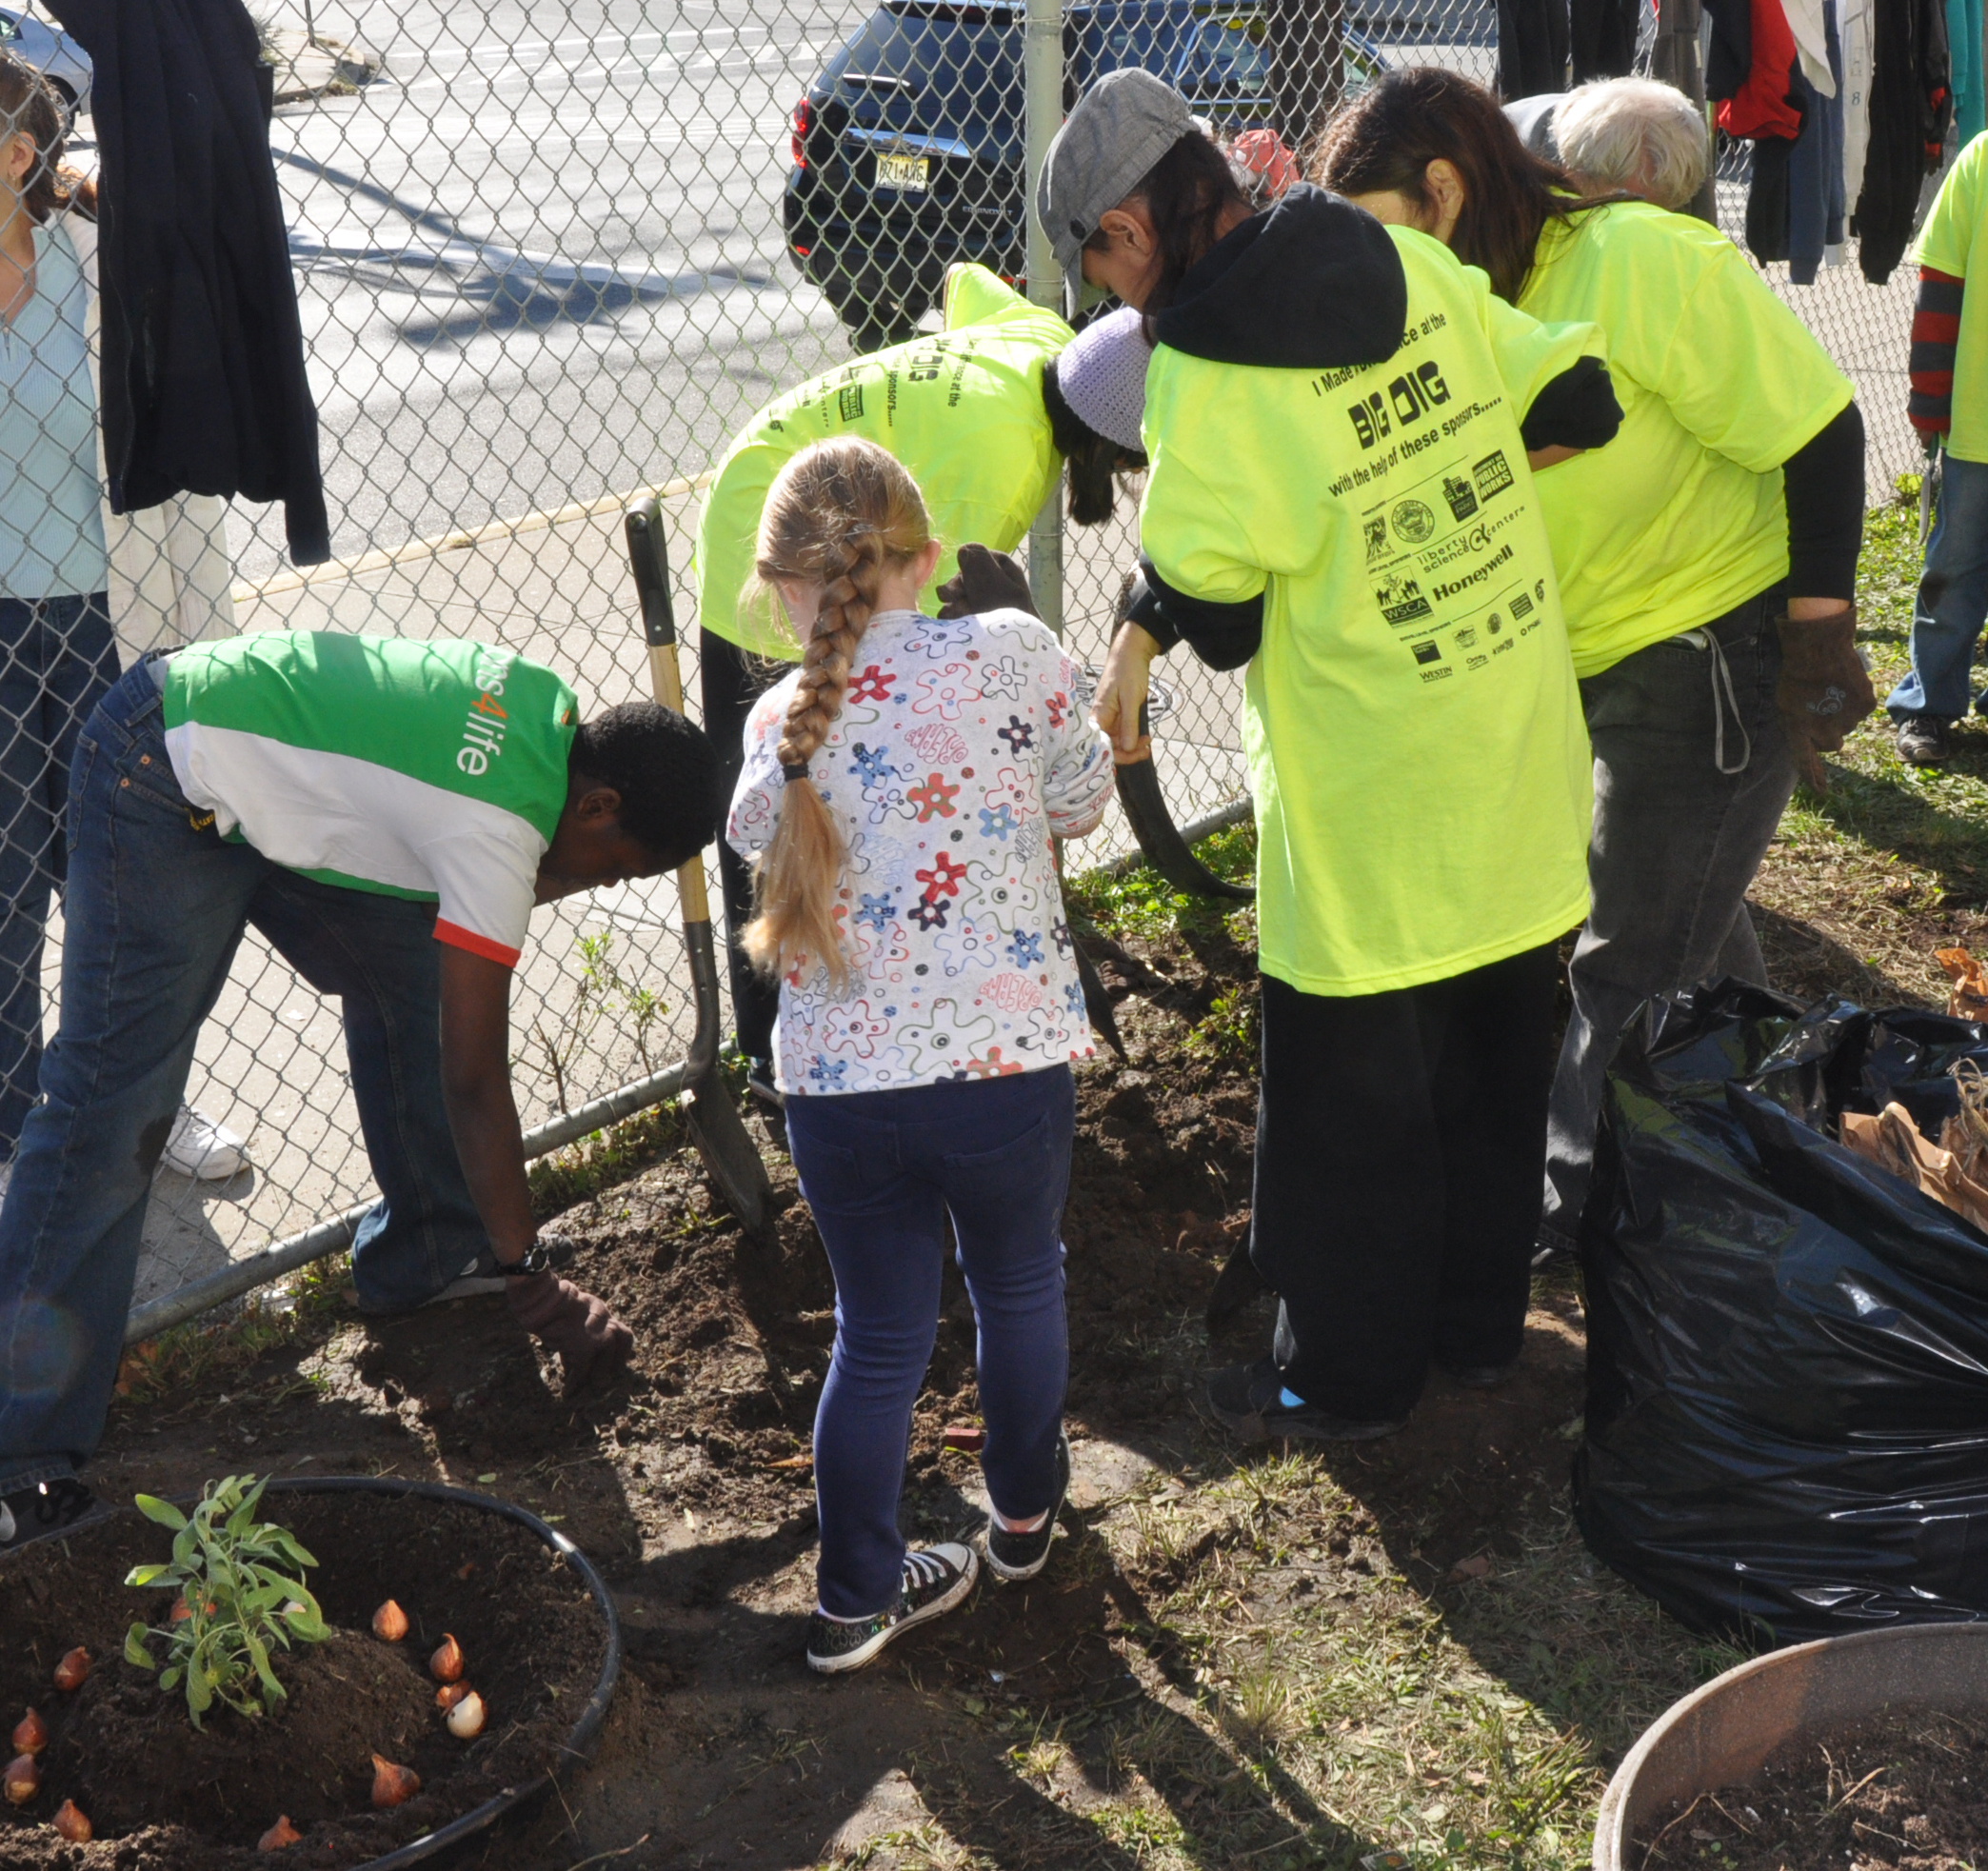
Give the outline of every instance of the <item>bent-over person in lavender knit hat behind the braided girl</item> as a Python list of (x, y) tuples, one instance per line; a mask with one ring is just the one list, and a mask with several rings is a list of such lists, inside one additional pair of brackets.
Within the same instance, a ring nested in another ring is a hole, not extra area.
[[(698, 652), (704, 724), (726, 762), (728, 791), (740, 775), (751, 704), (799, 656), (791, 636), (740, 598), (751, 583), (767, 491), (803, 447), (861, 435), (911, 469), (944, 545), (924, 598), (940, 616), (1028, 606), (1020, 571), (990, 553), (1022, 541), (1066, 473), (1072, 521), (1097, 527), (1111, 517), (1115, 477), (1145, 465), (1147, 342), (1137, 318), (1099, 318), (1072, 336), (1056, 312), (1030, 304), (986, 266), (962, 264), (946, 276), (944, 320), (938, 332), (787, 390), (740, 429), (718, 467), (698, 519)], [(751, 873), (724, 843), (718, 863), (740, 1054), (753, 1092), (777, 1104), (779, 996), (738, 946), (751, 921)]]

